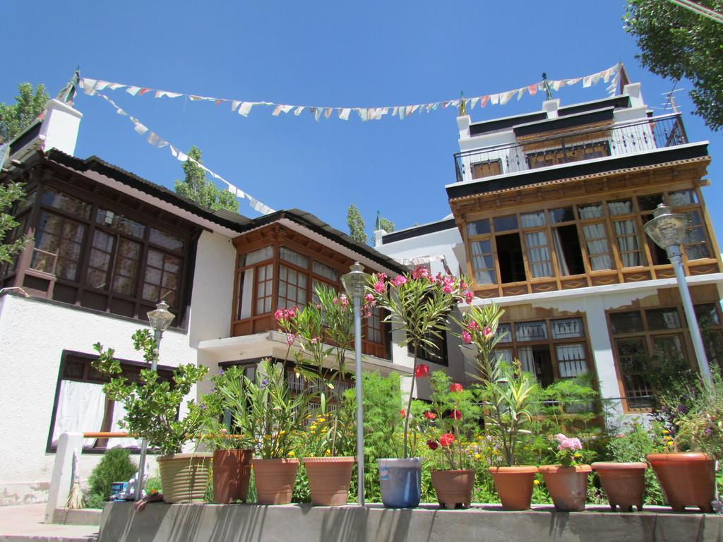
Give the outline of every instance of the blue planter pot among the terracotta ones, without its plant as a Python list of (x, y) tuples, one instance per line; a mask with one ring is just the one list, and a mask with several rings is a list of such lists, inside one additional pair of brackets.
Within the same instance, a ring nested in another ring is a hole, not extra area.
[(378, 459), (382, 503), (387, 508), (414, 508), (422, 499), (422, 458)]

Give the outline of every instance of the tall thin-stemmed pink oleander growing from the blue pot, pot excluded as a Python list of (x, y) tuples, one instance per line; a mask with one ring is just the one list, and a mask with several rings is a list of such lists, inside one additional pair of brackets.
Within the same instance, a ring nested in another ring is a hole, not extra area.
[[(448, 331), (448, 315), (453, 306), (459, 301), (469, 302), (474, 298), (474, 294), (466, 288), (464, 280), (452, 275), (438, 273), (432, 277), (427, 267), (417, 267), (414, 272), (393, 279), (388, 279), (384, 273), (369, 278), (365, 299), (387, 311), (384, 321), (392, 324), (393, 331), (405, 332), (401, 346), (411, 345), (414, 351), (414, 376), (406, 412), (411, 411), (416, 378), (422, 376), (417, 376), (419, 348), (422, 345), (429, 350), (439, 348), (433, 339), (441, 338)], [(409, 457), (408, 429), (409, 416), (404, 419), (403, 457)]]

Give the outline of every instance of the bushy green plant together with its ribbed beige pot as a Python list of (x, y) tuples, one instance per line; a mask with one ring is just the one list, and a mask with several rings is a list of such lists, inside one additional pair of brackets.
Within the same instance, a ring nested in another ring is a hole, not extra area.
[[(158, 344), (149, 330), (138, 330), (133, 335), (135, 350), (142, 351), (150, 364), (158, 360)], [(129, 434), (147, 440), (148, 446), (158, 449), (158, 468), (161, 470), (163, 500), (166, 502), (200, 502), (203, 500), (211, 454), (181, 453), (184, 444), (199, 432), (204, 405), (193, 400), (186, 403), (185, 416), (179, 419), (179, 406), (194, 385), (200, 382), (208, 369), (194, 364), (179, 365), (172, 382), (161, 380), (158, 372), (141, 369), (137, 381), (127, 381), (121, 374), (121, 364), (112, 348), (96, 343), (93, 348), (98, 358), (93, 367), (111, 377), (103, 386), (106, 397), (124, 403), (126, 416), (120, 426)]]

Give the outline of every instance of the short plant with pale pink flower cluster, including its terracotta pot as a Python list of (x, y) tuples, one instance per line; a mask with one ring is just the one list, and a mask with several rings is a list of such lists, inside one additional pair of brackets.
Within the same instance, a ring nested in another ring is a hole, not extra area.
[(559, 465), (542, 465), (539, 470), (544, 483), (560, 512), (578, 512), (585, 509), (588, 474), (592, 468), (585, 461), (590, 456), (583, 451), (580, 439), (562, 433), (555, 435), (557, 447), (552, 452)]

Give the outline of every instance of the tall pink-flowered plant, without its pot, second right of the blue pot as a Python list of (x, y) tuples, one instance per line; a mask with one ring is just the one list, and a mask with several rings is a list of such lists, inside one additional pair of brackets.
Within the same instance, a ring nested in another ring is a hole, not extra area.
[(463, 314), (462, 341), (476, 349), (470, 376), (479, 382), (479, 394), (487, 407), (487, 431), (499, 442), (502, 456), (509, 465), (517, 461), (520, 436), (532, 419), (530, 409), (537, 388), (536, 382), (521, 370), (519, 361), (512, 366), (495, 360), (495, 347), (504, 337), (497, 326), (504, 311), (495, 304), (472, 306)]

